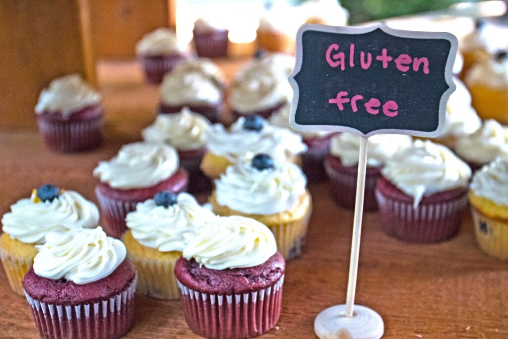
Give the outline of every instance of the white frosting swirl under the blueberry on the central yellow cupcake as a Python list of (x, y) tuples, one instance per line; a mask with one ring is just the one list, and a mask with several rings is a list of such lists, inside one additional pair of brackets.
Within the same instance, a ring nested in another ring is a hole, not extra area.
[(250, 160), (243, 160), (215, 180), (215, 192), (220, 205), (246, 214), (270, 215), (295, 206), (306, 184), (307, 178), (295, 164), (280, 162), (260, 171)]

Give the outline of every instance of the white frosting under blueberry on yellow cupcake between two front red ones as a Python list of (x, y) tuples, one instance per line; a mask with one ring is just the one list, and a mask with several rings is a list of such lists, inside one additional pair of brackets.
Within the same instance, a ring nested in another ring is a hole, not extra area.
[(153, 199), (140, 202), (125, 222), (139, 243), (160, 252), (182, 252), (200, 227), (215, 215), (188, 193), (180, 193), (174, 205), (157, 206)]

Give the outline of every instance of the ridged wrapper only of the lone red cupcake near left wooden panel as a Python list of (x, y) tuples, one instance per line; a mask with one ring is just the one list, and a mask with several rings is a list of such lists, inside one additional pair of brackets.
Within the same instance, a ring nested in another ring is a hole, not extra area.
[(72, 152), (97, 147), (102, 142), (102, 115), (83, 120), (37, 119), (39, 130), (48, 148)]

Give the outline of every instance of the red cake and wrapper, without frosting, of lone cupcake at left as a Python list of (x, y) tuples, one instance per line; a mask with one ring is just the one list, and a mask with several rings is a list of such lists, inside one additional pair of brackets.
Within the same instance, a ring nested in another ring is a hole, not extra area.
[(93, 106), (68, 119), (63, 119), (59, 113), (39, 114), (37, 123), (48, 148), (61, 152), (82, 151), (102, 143), (103, 115), (100, 106)]

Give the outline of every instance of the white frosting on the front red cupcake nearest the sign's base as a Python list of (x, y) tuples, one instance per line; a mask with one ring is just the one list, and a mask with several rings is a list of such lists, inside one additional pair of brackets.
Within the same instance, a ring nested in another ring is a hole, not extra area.
[(275, 237), (260, 222), (233, 215), (215, 217), (185, 246), (183, 257), (209, 269), (254, 267), (277, 252)]

